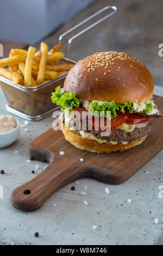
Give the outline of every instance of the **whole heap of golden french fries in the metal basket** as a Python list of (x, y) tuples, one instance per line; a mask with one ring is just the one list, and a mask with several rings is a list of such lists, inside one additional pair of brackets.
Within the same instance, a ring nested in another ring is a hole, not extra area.
[(8, 58), (0, 59), (0, 75), (15, 84), (37, 86), (58, 78), (73, 67), (73, 64), (58, 65), (58, 60), (62, 58), (64, 53), (61, 52), (59, 45), (55, 45), (49, 53), (44, 42), (41, 42), (40, 50), (37, 52), (32, 46), (28, 51), (12, 48)]

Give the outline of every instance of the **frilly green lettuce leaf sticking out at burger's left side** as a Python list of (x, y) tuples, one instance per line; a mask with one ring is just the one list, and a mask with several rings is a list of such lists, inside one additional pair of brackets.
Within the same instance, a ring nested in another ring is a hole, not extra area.
[(52, 102), (61, 105), (61, 111), (65, 112), (65, 107), (72, 111), (73, 107), (79, 107), (80, 102), (76, 98), (75, 93), (61, 93), (60, 86), (55, 88), (55, 93), (52, 93)]

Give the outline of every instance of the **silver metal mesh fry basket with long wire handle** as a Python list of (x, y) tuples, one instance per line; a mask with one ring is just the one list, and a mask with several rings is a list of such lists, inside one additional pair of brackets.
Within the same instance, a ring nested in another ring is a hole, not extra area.
[[(91, 29), (92, 27), (95, 27), (102, 21), (108, 19), (110, 16), (115, 14), (117, 8), (115, 6), (104, 7), (103, 9), (97, 11), (97, 13), (91, 15), (84, 21), (80, 22), (78, 25), (74, 26), (64, 34), (60, 35), (59, 44), (61, 46), (62, 38), (64, 38), (65, 35), (71, 33), (72, 31), (74, 31), (74, 29), (82, 26), (87, 21), (93, 19), (93, 17), (103, 13), (105, 10), (108, 9), (111, 10), (111, 13), (96, 21), (78, 34), (72, 36), (72, 38), (68, 40), (68, 58), (62, 59), (61, 64), (76, 64), (76, 62), (71, 59), (72, 41), (89, 29)], [(35, 87), (25, 87), (19, 84), (16, 85), (14, 82), (8, 80), (7, 78), (0, 76), (1, 87), (8, 101), (6, 105), (7, 110), (29, 121), (37, 121), (47, 117), (48, 115), (52, 114), (53, 111), (55, 111), (57, 108), (60, 108), (59, 106), (52, 103), (51, 95), (57, 86), (62, 87), (64, 85), (66, 76), (67, 73), (59, 76), (55, 80), (47, 81)]]

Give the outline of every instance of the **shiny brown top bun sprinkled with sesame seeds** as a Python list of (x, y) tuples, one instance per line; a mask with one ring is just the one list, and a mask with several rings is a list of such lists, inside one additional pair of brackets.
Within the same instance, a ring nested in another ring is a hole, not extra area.
[(136, 58), (122, 52), (100, 52), (79, 60), (68, 73), (64, 88), (78, 99), (126, 103), (153, 95), (151, 73)]

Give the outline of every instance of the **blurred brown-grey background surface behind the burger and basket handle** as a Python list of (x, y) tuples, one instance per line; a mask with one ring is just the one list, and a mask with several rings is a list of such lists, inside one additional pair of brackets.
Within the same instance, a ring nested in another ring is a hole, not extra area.
[[(127, 52), (141, 60), (148, 67), (152, 72), (155, 84), (163, 86), (163, 57), (158, 56), (160, 50), (158, 46), (163, 43), (162, 0), (97, 0), (43, 40), (47, 42), (49, 47), (53, 47), (54, 44), (58, 43), (60, 34), (106, 5), (116, 5), (117, 13), (74, 40), (72, 59), (79, 60), (101, 51)], [(102, 16), (104, 14), (99, 15), (99, 17)], [(96, 19), (93, 21), (96, 21)], [(90, 22), (87, 24), (90, 25)], [(83, 28), (86, 26), (83, 26)], [(77, 32), (79, 32), (79, 29), (77, 29)], [(62, 50), (64, 52), (67, 51), (68, 38), (73, 34), (67, 35), (63, 41)], [(39, 48), (40, 44), (37, 47)]]

